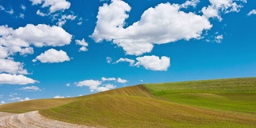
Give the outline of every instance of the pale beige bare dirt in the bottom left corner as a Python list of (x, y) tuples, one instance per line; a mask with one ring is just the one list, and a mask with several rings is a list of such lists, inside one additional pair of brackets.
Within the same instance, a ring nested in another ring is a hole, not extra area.
[(93, 128), (90, 126), (79, 126), (66, 122), (59, 122), (45, 118), (38, 111), (24, 114), (9, 114), (0, 112), (0, 127), (4, 128)]

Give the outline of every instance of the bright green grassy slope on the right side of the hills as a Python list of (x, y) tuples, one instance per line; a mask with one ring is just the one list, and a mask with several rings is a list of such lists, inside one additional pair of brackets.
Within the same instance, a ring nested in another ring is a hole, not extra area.
[(146, 87), (170, 102), (256, 116), (256, 78), (170, 82)]

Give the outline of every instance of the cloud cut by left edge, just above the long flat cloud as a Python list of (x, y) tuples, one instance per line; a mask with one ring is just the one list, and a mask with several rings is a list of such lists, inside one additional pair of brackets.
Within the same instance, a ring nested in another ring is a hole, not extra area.
[(23, 65), (23, 63), (14, 62), (12, 59), (0, 58), (0, 73), (28, 74), (27, 71), (23, 69)]

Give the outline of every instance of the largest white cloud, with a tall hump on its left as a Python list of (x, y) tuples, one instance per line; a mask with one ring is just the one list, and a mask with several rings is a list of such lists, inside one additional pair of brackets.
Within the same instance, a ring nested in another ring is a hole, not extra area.
[(95, 42), (113, 41), (126, 54), (149, 53), (154, 44), (175, 42), (181, 39), (202, 38), (203, 30), (212, 25), (207, 18), (180, 10), (180, 5), (161, 3), (146, 10), (138, 22), (123, 28), (130, 6), (121, 0), (99, 7), (98, 21), (91, 35)]

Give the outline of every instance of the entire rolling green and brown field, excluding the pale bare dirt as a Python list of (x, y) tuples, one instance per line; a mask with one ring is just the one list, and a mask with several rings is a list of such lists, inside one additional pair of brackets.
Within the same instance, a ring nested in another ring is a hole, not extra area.
[(256, 78), (129, 86), (78, 98), (0, 106), (98, 127), (255, 127)]

